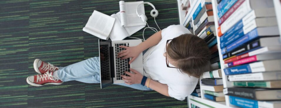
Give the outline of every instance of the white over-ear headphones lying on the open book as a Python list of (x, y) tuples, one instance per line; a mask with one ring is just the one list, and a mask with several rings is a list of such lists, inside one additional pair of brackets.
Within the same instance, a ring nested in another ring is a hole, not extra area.
[[(155, 17), (158, 16), (158, 11), (155, 9), (155, 7), (154, 7), (153, 4), (151, 4), (151, 3), (149, 3), (149, 2), (143, 2), (143, 3), (141, 3), (141, 4), (138, 4), (138, 6), (140, 6), (140, 5), (142, 5), (142, 4), (148, 4), (148, 5), (150, 5), (150, 6), (153, 8), (153, 9), (150, 11), (150, 15), (151, 15), (153, 18), (155, 18)], [(145, 16), (145, 14), (141, 14), (141, 15), (138, 14), (138, 6), (136, 7), (136, 13), (137, 13), (138, 17), (140, 17), (143, 22), (146, 22), (146, 21), (147, 21), (147, 17)]]

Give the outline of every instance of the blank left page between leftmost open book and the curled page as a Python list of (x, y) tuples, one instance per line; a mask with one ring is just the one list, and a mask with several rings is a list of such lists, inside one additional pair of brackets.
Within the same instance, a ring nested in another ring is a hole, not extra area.
[[(118, 16), (120, 17), (120, 12), (118, 13), (119, 13)], [(129, 36), (125, 28), (121, 26), (121, 21), (120, 18), (118, 18), (118, 16), (116, 14), (111, 15), (111, 17), (116, 19), (112, 31), (109, 34), (109, 38), (111, 39), (111, 41), (123, 40)]]

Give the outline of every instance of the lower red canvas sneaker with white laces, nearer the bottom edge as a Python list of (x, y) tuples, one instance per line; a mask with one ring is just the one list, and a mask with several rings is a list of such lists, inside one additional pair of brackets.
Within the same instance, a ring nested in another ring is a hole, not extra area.
[(63, 83), (59, 79), (53, 79), (53, 72), (29, 76), (27, 77), (26, 82), (32, 86), (43, 86), (48, 84), (61, 85)]

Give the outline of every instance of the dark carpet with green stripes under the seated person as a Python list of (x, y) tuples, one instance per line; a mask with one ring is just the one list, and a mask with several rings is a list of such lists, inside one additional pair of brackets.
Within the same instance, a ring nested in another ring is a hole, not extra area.
[[(148, 0), (159, 11), (161, 29), (178, 24), (177, 1)], [(156, 27), (145, 5), (148, 24)], [(0, 107), (187, 107), (155, 91), (112, 85), (65, 82), (62, 85), (30, 86), (36, 58), (67, 66), (98, 56), (98, 38), (82, 31), (93, 10), (117, 13), (118, 0), (1, 0), (0, 1)], [(142, 31), (133, 34), (142, 38)], [(154, 32), (148, 30), (148, 38)]]

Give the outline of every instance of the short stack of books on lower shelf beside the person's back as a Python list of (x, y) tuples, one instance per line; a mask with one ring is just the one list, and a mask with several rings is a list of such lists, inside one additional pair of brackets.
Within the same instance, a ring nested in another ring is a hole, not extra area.
[(221, 69), (204, 72), (202, 77), (201, 87), (204, 92), (204, 97), (214, 101), (225, 101)]

